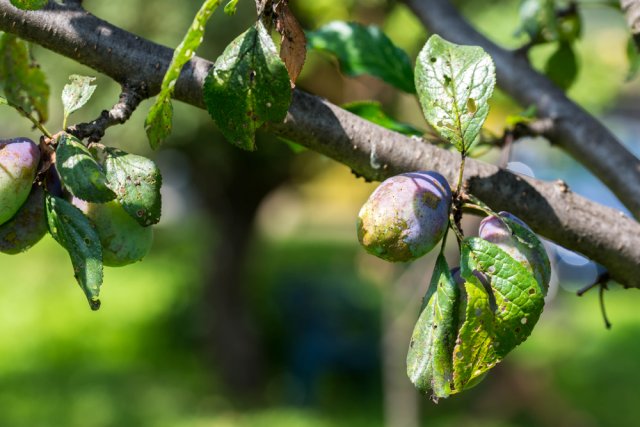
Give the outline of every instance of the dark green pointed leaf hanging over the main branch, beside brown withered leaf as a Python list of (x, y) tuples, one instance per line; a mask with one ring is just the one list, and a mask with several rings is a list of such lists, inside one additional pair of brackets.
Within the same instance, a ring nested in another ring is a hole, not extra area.
[(263, 123), (284, 120), (291, 102), (289, 74), (261, 22), (216, 60), (204, 82), (204, 102), (225, 138), (245, 150), (255, 149)]

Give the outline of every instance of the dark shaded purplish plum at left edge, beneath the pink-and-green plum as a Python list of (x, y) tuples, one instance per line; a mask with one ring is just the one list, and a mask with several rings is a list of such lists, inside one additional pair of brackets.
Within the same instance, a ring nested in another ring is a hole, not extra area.
[(0, 252), (18, 254), (42, 239), (47, 233), (44, 190), (34, 184), (27, 201), (7, 222), (0, 225)]

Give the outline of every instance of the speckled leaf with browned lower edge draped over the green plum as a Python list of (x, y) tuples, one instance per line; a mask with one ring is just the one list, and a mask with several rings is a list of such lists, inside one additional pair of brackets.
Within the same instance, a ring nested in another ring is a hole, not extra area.
[(160, 221), (162, 175), (146, 157), (116, 148), (106, 149), (105, 171), (118, 202), (141, 226)]

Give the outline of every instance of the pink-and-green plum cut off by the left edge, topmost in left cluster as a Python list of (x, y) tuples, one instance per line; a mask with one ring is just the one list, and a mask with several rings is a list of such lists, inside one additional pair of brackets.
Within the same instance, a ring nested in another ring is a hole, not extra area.
[(38, 146), (28, 138), (0, 140), (0, 224), (27, 200), (40, 162)]

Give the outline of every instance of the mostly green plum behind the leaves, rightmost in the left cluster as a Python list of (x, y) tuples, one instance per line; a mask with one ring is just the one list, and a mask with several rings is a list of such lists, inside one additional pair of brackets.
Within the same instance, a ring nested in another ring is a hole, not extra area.
[(95, 225), (104, 265), (120, 267), (140, 261), (151, 249), (152, 228), (138, 224), (117, 201), (89, 203), (74, 197), (72, 203)]

